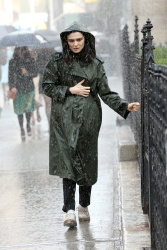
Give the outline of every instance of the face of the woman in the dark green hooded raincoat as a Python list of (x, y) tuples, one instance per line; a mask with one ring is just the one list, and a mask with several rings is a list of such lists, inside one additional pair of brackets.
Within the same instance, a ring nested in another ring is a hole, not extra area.
[(85, 45), (85, 37), (81, 32), (74, 32), (67, 36), (67, 42), (74, 53), (79, 53)]

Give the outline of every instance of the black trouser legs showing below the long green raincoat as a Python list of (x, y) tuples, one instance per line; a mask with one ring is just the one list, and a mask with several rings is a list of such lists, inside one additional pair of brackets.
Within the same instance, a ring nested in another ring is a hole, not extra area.
[[(79, 204), (82, 207), (90, 205), (92, 186), (79, 186)], [(76, 182), (70, 179), (63, 179), (63, 194), (64, 194), (64, 206), (62, 210), (68, 212), (68, 210), (75, 210), (75, 190)]]

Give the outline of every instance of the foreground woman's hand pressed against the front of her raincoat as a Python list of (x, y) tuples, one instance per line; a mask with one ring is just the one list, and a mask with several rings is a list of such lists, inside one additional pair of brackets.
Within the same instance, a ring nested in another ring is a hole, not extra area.
[(88, 97), (90, 93), (90, 87), (82, 86), (82, 83), (84, 83), (84, 81), (85, 79), (77, 83), (74, 87), (69, 88), (69, 91), (71, 92), (71, 94)]

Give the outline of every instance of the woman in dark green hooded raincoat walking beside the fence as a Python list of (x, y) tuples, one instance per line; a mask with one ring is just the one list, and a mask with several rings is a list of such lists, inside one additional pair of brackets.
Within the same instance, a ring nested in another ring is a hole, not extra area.
[(97, 181), (97, 143), (102, 120), (101, 99), (123, 118), (139, 110), (108, 86), (103, 61), (96, 56), (95, 37), (74, 22), (61, 34), (63, 52), (46, 66), (43, 91), (51, 97), (49, 173), (63, 178), (65, 226), (76, 226), (75, 189), (79, 185), (79, 220), (89, 220), (91, 187)]

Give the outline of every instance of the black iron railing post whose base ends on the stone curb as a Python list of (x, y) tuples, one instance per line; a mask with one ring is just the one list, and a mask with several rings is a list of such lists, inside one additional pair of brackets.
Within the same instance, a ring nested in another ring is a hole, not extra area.
[(142, 206), (143, 212), (150, 214), (150, 165), (149, 165), (149, 65), (155, 63), (154, 46), (152, 45), (153, 36), (151, 29), (153, 25), (150, 19), (147, 19), (141, 32), (143, 33), (142, 63), (141, 63), (141, 127), (142, 127)]

